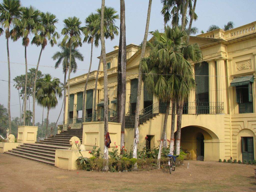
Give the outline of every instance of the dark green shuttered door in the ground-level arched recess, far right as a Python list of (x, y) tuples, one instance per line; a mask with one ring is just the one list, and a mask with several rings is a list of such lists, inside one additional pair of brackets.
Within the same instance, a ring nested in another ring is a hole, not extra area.
[(242, 161), (253, 161), (253, 137), (241, 137), (242, 139)]

